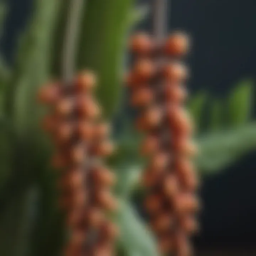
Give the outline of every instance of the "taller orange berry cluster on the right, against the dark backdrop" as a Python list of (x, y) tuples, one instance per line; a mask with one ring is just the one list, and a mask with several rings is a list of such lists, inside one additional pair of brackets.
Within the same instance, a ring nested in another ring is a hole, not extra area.
[(191, 255), (189, 237), (198, 229), (198, 186), (191, 157), (196, 146), (184, 103), (188, 70), (181, 59), (188, 37), (173, 33), (165, 42), (147, 34), (131, 40), (134, 64), (127, 77), (130, 99), (139, 111), (136, 126), (145, 132), (141, 151), (149, 158), (143, 174), (145, 208), (162, 254)]

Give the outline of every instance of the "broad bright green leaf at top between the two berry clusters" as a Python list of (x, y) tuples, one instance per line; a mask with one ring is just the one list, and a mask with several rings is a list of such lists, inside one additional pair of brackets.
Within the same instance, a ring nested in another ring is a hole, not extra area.
[(78, 68), (95, 70), (97, 97), (105, 117), (117, 110), (124, 67), (124, 49), (133, 0), (89, 0), (81, 30)]

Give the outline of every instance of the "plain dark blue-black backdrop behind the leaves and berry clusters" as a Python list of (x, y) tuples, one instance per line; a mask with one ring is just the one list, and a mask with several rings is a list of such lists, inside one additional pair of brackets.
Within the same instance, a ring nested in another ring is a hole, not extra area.
[[(9, 0), (10, 13), (1, 42), (7, 62), (31, 12), (30, 0)], [(148, 1), (143, 1), (148, 2)], [(191, 91), (225, 97), (235, 82), (255, 78), (255, 0), (172, 0), (169, 28), (193, 37), (189, 58)], [(150, 19), (149, 19), (150, 20)], [(149, 27), (150, 22), (144, 26)], [(199, 250), (234, 250), (244, 255), (256, 249), (256, 152), (228, 170), (204, 180), (202, 232)], [(252, 253), (252, 255), (256, 255)]]

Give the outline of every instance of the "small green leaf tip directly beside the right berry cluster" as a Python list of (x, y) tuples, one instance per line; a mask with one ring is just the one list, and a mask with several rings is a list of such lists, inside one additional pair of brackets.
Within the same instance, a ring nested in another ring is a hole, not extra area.
[(197, 124), (198, 130), (202, 124), (202, 115), (204, 110), (204, 105), (207, 101), (207, 94), (205, 92), (200, 92), (194, 96), (188, 103), (188, 110), (190, 111), (194, 123)]

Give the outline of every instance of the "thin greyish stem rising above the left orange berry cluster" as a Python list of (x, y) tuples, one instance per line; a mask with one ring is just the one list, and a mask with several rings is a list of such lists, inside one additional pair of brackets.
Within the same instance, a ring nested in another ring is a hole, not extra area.
[(70, 0), (70, 12), (64, 37), (62, 79), (65, 85), (72, 81), (75, 69), (76, 44), (83, 4), (86, 0)]

